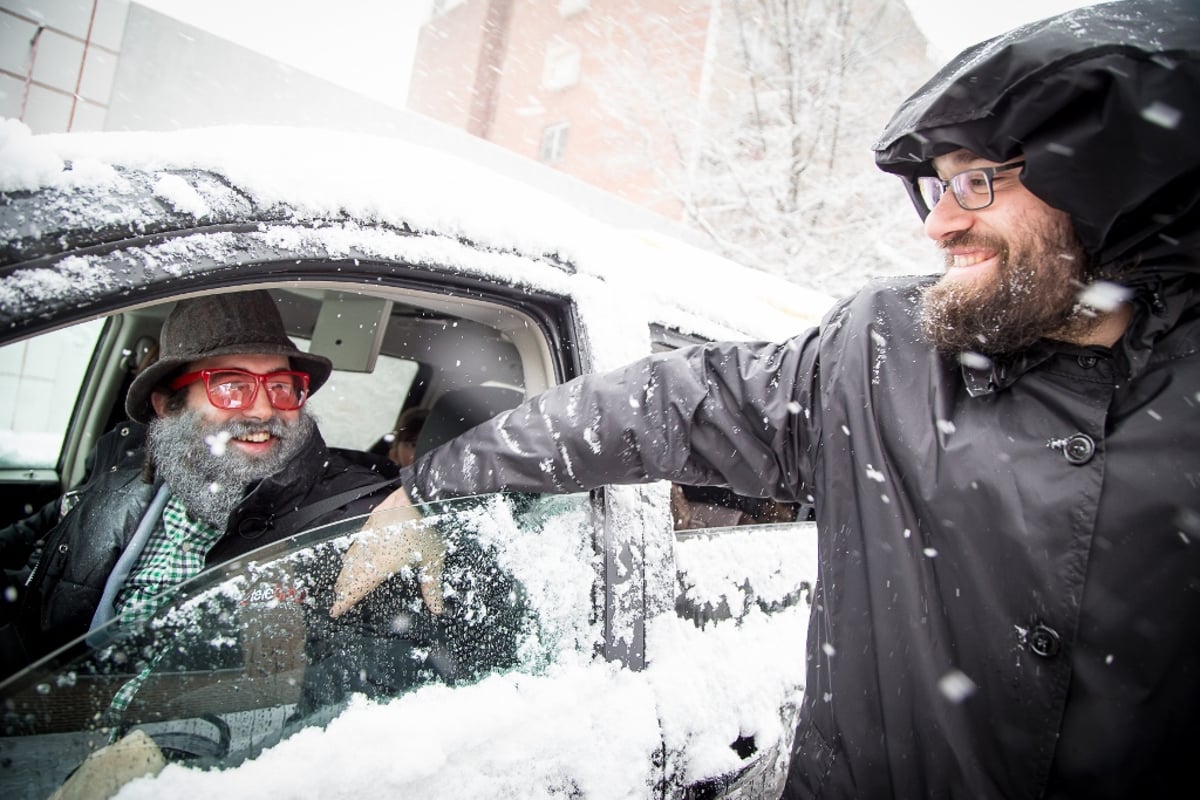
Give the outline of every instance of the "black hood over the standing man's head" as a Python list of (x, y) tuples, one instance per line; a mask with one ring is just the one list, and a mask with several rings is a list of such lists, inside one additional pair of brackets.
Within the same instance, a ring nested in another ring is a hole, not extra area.
[(1021, 180), (1099, 264), (1200, 272), (1200, 0), (1090, 6), (967, 48), (874, 145), (910, 193), (959, 148), (1024, 155)]

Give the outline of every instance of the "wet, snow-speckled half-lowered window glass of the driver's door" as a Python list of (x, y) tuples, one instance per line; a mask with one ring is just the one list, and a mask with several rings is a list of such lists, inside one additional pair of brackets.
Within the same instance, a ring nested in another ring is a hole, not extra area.
[[(228, 768), (386, 699), (589, 660), (601, 632), (587, 494), (422, 509), (446, 543), (445, 610), (402, 571), (331, 618), (358, 517), (269, 545), (170, 590), (0, 684), (0, 795), (49, 796), (94, 751), (148, 735), (167, 762)], [(140, 734), (136, 734), (140, 735)]]

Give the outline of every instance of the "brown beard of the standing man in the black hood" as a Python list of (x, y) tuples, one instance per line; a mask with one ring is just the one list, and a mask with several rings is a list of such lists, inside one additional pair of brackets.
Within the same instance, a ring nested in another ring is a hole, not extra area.
[(1076, 339), (1100, 317), (1079, 303), (1093, 277), (1087, 253), (1063, 216), (1026, 231), (1025, 245), (962, 231), (942, 240), (944, 248), (978, 245), (1000, 255), (998, 273), (984, 285), (938, 281), (922, 295), (920, 329), (938, 351), (1001, 355), (1038, 339)]

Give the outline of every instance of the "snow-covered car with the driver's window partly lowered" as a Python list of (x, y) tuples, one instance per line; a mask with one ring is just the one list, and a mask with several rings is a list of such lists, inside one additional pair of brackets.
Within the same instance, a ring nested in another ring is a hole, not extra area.
[[(445, 154), (311, 131), (4, 122), (0, 237), (0, 525), (84, 477), (182, 297), (269, 290), (334, 362), (325, 439), (359, 451), (412, 407), (466, 423), (463, 398), (493, 414), (653, 350), (787, 336), (829, 302)], [(402, 577), (329, 616), (362, 519), (215, 566), (0, 682), (0, 795), (77, 770), (122, 798), (779, 794), (806, 509), (659, 483), (425, 511), (443, 618)], [(89, 772), (115, 741), (151, 775)]]

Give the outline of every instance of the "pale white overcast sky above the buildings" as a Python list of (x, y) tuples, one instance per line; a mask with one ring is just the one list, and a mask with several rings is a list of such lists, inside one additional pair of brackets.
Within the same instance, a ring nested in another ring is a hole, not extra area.
[[(428, 0), (139, 0), (188, 24), (383, 102), (404, 102)], [(548, 1), (548, 0), (547, 0)], [(907, 0), (931, 53), (964, 47), (1079, 0)]]

